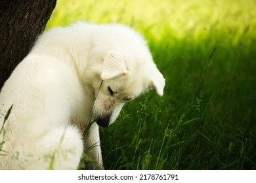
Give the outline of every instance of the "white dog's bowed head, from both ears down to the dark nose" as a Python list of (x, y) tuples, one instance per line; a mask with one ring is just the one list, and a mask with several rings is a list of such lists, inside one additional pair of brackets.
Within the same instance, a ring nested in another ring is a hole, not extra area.
[(141, 93), (154, 89), (158, 95), (163, 95), (165, 79), (152, 61), (150, 52), (147, 56), (123, 54), (110, 51), (103, 62), (100, 89), (95, 88), (95, 104), (93, 119), (102, 127), (112, 124), (123, 105)]

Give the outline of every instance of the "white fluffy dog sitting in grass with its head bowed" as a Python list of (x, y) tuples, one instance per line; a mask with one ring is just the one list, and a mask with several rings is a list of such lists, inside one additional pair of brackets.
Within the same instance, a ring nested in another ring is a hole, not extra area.
[(77, 169), (92, 146), (87, 168), (102, 169), (98, 125), (150, 88), (163, 95), (164, 85), (129, 27), (77, 23), (43, 33), (1, 90), (0, 169)]

